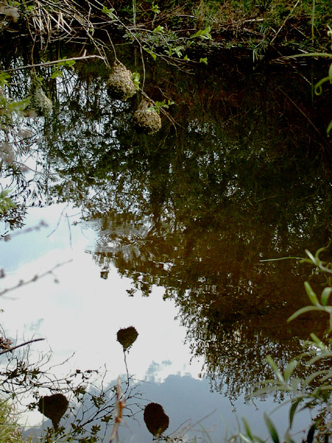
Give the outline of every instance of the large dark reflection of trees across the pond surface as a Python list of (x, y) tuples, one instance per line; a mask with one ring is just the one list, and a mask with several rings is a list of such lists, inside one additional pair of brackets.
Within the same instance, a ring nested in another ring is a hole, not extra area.
[(298, 78), (234, 67), (147, 73), (149, 95), (158, 100), (160, 87), (177, 103), (176, 130), (164, 120), (158, 134), (136, 134), (138, 100), (111, 100), (96, 65), (52, 84), (55, 112), (39, 146), (57, 173), (48, 199), (83, 207), (103, 278), (115, 264), (131, 293), (165, 287), (205, 373), (236, 396), (267, 374), (267, 353), (285, 362), (311, 329), (309, 319), (285, 326), (304, 303), (297, 266), (259, 259), (329, 239), (331, 173), (317, 150), (326, 142), (315, 115), (303, 116)]

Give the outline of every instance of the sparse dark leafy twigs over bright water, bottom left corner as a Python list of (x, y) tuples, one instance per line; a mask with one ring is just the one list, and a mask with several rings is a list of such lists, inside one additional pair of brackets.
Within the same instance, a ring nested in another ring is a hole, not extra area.
[[(61, 438), (65, 442), (101, 442), (113, 417), (118, 417), (116, 410), (120, 401), (123, 406), (122, 415), (131, 415), (130, 406), (125, 408), (124, 401), (126, 398), (136, 399), (129, 376), (122, 383), (119, 380), (116, 386), (107, 388), (102, 383), (107, 372), (100, 373), (99, 370), (77, 369), (60, 379), (51, 370), (53, 363), (50, 361), (50, 354), (44, 354), (34, 361), (30, 347), (25, 347), (20, 354), (17, 350), (13, 352), (8, 349), (12, 342), (4, 336), (1, 343), (4, 349), (2, 354), (7, 354), (7, 362), (6, 366), (0, 368), (0, 392), (4, 397), (10, 398), (12, 404), (19, 405), (21, 410), (22, 407), (26, 410), (39, 410), (51, 419), (53, 428), (46, 428), (44, 435), (39, 438), (40, 441), (50, 442), (54, 438)], [(44, 395), (45, 392), (50, 392), (50, 395)], [(62, 426), (59, 426), (60, 419)], [(13, 429), (15, 435), (18, 435), (16, 428)], [(1, 432), (2, 426), (0, 441)]]

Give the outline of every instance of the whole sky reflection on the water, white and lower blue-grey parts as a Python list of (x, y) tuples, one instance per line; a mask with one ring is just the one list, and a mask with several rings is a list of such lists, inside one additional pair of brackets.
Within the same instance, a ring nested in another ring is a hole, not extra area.
[[(67, 219), (66, 214), (73, 217)], [(148, 298), (139, 293), (129, 297), (131, 280), (120, 277), (116, 269), (110, 270), (107, 280), (100, 278), (100, 268), (86, 253), (93, 251), (93, 230), (73, 226), (74, 209), (34, 208), (26, 226), (36, 226), (42, 219), (47, 228), (13, 235), (10, 242), (1, 244), (0, 268), (7, 273), (1, 288), (72, 261), (1, 299), (1, 324), (7, 336), (18, 343), (46, 338), (31, 349), (47, 352), (50, 348), (54, 363), (75, 353), (66, 365), (55, 368), (59, 374), (106, 365), (116, 379), (125, 372), (116, 332), (133, 325), (139, 336), (127, 356), (129, 374), (139, 381), (142, 399), (163, 404), (170, 417), (170, 432), (191, 419), (196, 433), (208, 431), (212, 442), (220, 442), (237, 431), (237, 420), (244, 415), (255, 425), (255, 433), (266, 434), (262, 412), (276, 405), (269, 399), (256, 401), (257, 410), (242, 397), (232, 405), (219, 393), (210, 392), (208, 381), (199, 379), (201, 362), (190, 361), (189, 346), (183, 344), (185, 327), (174, 320), (178, 314), (174, 302), (163, 300), (162, 288), (155, 287)], [(34, 423), (41, 418), (39, 413), (31, 417)], [(277, 424), (286, 424), (286, 410), (278, 410), (273, 418)], [(151, 439), (140, 416), (138, 422), (128, 420), (121, 432), (127, 442)]]

